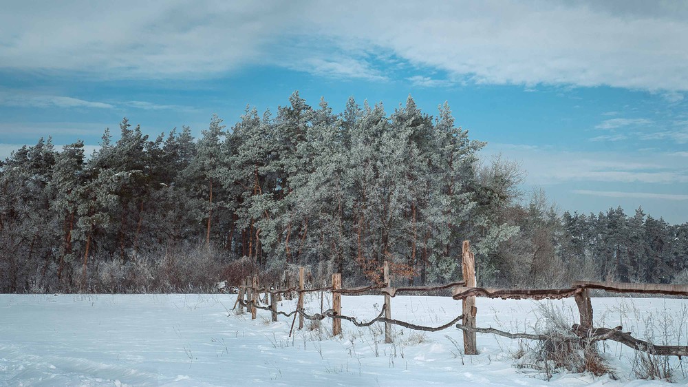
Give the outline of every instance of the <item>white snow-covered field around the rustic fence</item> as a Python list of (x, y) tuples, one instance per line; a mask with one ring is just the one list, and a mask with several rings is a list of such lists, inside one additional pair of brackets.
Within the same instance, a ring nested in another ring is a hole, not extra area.
[[(633, 351), (611, 343), (605, 351), (620, 377), (544, 374), (515, 368), (518, 341), (477, 335), (480, 355), (462, 356), (457, 328), (437, 333), (394, 330), (384, 344), (382, 324), (356, 328), (343, 321), (343, 335), (304, 328), (288, 337), (291, 318), (270, 322), (267, 311), (231, 312), (236, 295), (0, 295), (0, 386), (648, 386), (663, 381), (632, 375)], [(307, 297), (320, 311), (320, 295)], [(546, 304), (547, 302), (539, 302)], [(330, 297), (325, 295), (325, 308)], [(345, 296), (343, 314), (369, 320), (382, 296)], [(477, 299), (478, 326), (533, 332), (541, 324), (537, 302)], [(669, 335), (685, 345), (687, 300), (594, 298), (595, 318), (623, 324), (646, 337), (653, 315), (655, 342)], [(547, 304), (577, 319), (573, 300)], [(281, 311), (292, 311), (285, 301)], [(392, 317), (439, 326), (461, 313), (451, 297), (398, 296)], [(603, 320), (603, 321), (602, 321)], [(298, 324), (298, 322), (297, 322)], [(306, 327), (309, 328), (308, 320)], [(665, 326), (665, 328), (660, 328)], [(664, 332), (667, 331), (667, 332)], [(679, 337), (680, 335), (680, 337)], [(678, 364), (678, 363), (676, 363)], [(688, 368), (688, 367), (687, 367)], [(688, 372), (688, 371), (687, 371)], [(681, 368), (675, 379), (685, 383)]]

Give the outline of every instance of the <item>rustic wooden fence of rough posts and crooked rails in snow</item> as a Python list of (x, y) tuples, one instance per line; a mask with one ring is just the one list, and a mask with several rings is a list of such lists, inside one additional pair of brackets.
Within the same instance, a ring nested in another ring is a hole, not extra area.
[[(610, 339), (619, 342), (626, 346), (630, 346), (638, 351), (644, 351), (655, 355), (688, 355), (687, 346), (656, 346), (652, 343), (644, 342), (636, 339), (630, 333), (621, 332), (622, 327), (615, 328), (593, 328), (593, 310), (590, 302), (590, 289), (601, 289), (605, 291), (612, 291), (616, 293), (641, 293), (641, 294), (661, 294), (661, 295), (688, 295), (688, 285), (676, 284), (630, 284), (623, 282), (584, 282), (576, 281), (570, 288), (565, 289), (493, 289), (493, 288), (479, 288), (476, 286), (475, 279), (475, 255), (471, 252), (471, 244), (469, 241), (463, 242), (462, 247), (462, 272), (463, 280), (452, 282), (450, 284), (442, 284), (438, 286), (406, 286), (406, 287), (392, 287), (389, 276), (389, 264), (387, 261), (383, 264), (383, 284), (372, 284), (369, 286), (361, 286), (350, 289), (343, 289), (341, 286), (341, 274), (332, 274), (332, 284), (317, 289), (305, 289), (304, 269), (299, 268), (299, 285), (289, 287), (287, 279), (287, 287), (284, 289), (271, 289), (268, 286), (260, 287), (257, 275), (252, 278), (247, 278), (239, 286), (239, 295), (235, 308), (239, 307), (240, 313), (243, 313), (244, 308), (248, 308), (251, 313), (251, 318), (256, 318), (256, 309), (264, 309), (270, 311), (272, 321), (277, 321), (277, 315), (284, 315), (286, 317), (294, 316), (289, 335), (292, 334), (294, 324), (299, 317), (299, 329), (303, 328), (304, 319), (308, 320), (324, 320), (329, 317), (332, 319), (332, 334), (339, 335), (341, 333), (341, 320), (347, 320), (356, 326), (370, 326), (376, 322), (385, 323), (385, 343), (391, 343), (393, 338), (391, 335), (391, 326), (399, 325), (405, 328), (410, 328), (420, 331), (440, 331), (449, 328), (459, 320), (460, 324), (456, 327), (462, 330), (464, 338), (464, 353), (466, 355), (477, 355), (477, 340), (476, 333), (492, 333), (512, 339), (547, 339), (544, 335), (534, 335), (529, 333), (508, 333), (499, 331), (495, 328), (478, 328), (475, 324), (477, 316), (477, 307), (475, 306), (475, 297), (488, 298), (502, 298), (513, 300), (559, 300), (561, 298), (574, 297), (579, 309), (580, 324), (573, 324), (571, 332), (580, 339), (585, 339), (586, 342), (595, 342), (599, 340)], [(453, 288), (452, 297), (454, 300), (462, 301), (462, 314), (456, 317), (451, 322), (442, 326), (420, 326), (394, 320), (391, 318), (391, 298), (398, 293), (418, 292), (418, 291), (438, 291), (442, 289)], [(264, 293), (264, 297), (260, 297), (260, 293)], [(323, 310), (323, 293), (325, 291), (332, 293), (332, 308)], [(290, 295), (292, 292), (298, 294), (297, 309), (291, 313), (277, 311), (277, 302), (281, 300), (283, 295)], [(305, 293), (321, 292), (321, 313), (308, 315), (303, 308)], [(359, 322), (356, 317), (346, 316), (341, 314), (341, 295), (342, 294), (360, 294), (360, 293), (378, 292), (385, 297), (383, 310), (380, 315), (369, 322)], [(263, 305), (261, 305), (263, 304)]]

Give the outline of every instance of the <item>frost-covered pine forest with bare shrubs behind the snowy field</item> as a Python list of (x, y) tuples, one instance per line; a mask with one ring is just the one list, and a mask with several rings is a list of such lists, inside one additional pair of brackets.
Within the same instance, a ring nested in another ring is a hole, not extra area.
[(122, 120), (100, 147), (47, 138), (0, 163), (0, 292), (190, 292), (279, 280), (432, 284), (460, 278), (471, 240), (478, 284), (688, 282), (688, 222), (636, 209), (561, 212), (525, 171), (411, 96), (342, 113), (294, 92), (273, 114), (247, 107), (151, 138)]

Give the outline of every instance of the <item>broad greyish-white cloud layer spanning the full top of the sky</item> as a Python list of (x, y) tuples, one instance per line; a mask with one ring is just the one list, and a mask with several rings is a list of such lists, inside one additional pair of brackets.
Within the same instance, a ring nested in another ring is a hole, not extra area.
[[(319, 75), (370, 74), (365, 65), (361, 72), (355, 64), (347, 68), (347, 57), (361, 65), (352, 56), (357, 48), (477, 83), (688, 90), (685, 3), (13, 2), (4, 5), (0, 25), (0, 67), (6, 69), (159, 78), (304, 63), (303, 70)], [(318, 39), (333, 47), (323, 52), (309, 45)], [(272, 55), (292, 49), (305, 56), (284, 61)], [(328, 59), (337, 49), (340, 57)]]

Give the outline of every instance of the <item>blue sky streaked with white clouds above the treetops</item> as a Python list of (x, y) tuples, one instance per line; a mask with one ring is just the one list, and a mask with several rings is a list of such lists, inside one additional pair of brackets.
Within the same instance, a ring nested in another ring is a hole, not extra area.
[(688, 2), (5, 1), (0, 158), (52, 136), (96, 148), (123, 117), (155, 136), (298, 90), (411, 94), (527, 172), (560, 211), (688, 221)]

